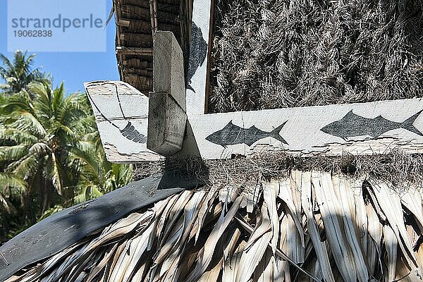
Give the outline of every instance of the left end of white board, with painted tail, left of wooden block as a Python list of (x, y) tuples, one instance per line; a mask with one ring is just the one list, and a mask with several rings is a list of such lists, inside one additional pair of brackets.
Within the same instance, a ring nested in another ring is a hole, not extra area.
[(86, 82), (104, 152), (114, 163), (158, 161), (147, 149), (148, 98), (121, 81)]

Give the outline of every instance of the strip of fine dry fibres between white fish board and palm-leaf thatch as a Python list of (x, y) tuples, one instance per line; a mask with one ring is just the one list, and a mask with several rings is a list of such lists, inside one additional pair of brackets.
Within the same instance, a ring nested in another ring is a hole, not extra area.
[[(342, 156), (299, 157), (286, 152), (255, 154), (234, 159), (202, 160), (197, 157), (167, 159), (137, 164), (133, 180), (157, 173), (196, 180), (207, 189), (235, 188), (254, 190), (262, 179), (281, 178), (291, 171), (326, 171), (342, 173), (345, 177), (367, 177), (392, 183), (397, 192), (412, 183), (423, 187), (423, 155), (405, 154), (398, 149), (384, 155), (343, 154)], [(247, 173), (246, 173), (247, 172)]]

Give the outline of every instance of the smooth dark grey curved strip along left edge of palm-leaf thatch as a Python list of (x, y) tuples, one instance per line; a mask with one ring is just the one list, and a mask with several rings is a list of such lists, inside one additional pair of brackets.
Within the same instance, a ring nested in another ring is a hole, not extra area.
[(151, 176), (47, 217), (0, 247), (0, 281), (23, 266), (55, 255), (135, 210), (183, 190), (178, 187), (192, 187), (192, 183)]

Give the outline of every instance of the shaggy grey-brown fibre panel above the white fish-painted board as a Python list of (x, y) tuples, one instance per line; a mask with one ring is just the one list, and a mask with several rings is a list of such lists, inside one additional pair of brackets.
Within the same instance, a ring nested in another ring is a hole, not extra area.
[(421, 0), (215, 0), (210, 112), (423, 97)]

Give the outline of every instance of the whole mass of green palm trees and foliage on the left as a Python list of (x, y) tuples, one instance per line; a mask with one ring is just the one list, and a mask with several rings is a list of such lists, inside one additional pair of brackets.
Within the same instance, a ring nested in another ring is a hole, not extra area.
[(16, 55), (14, 65), (1, 57), (2, 75), (12, 66), (27, 75), (9, 84), (18, 92), (0, 97), (1, 240), (132, 178), (131, 166), (106, 160), (86, 95), (66, 96), (63, 83), (51, 87), (30, 70), (33, 55), (25, 56)]

